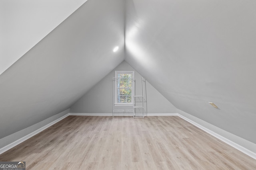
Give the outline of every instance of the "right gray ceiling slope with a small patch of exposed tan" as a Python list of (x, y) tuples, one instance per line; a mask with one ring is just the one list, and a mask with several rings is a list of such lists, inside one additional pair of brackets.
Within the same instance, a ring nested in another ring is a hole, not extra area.
[(125, 60), (178, 109), (256, 143), (255, 9), (254, 0), (126, 0)]

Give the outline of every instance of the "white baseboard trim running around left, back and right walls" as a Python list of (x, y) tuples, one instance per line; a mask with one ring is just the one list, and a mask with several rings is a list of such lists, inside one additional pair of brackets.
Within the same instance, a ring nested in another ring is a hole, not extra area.
[[(15, 147), (16, 145), (26, 141), (27, 139), (29, 139), (30, 137), (33, 137), (34, 135), (40, 133), (41, 131), (47, 129), (48, 127), (54, 125), (55, 123), (57, 123), (58, 121), (61, 121), (62, 119), (68, 117), (69, 115), (79, 115), (79, 116), (112, 116), (112, 113), (68, 113), (58, 119), (56, 119), (55, 121), (52, 121), (51, 123), (48, 123), (47, 125), (37, 129), (36, 131), (18, 139), (17, 141), (14, 141), (13, 143), (10, 143), (9, 145), (6, 145), (5, 147), (2, 147), (0, 149), (0, 154), (6, 152), (7, 150)], [(206, 127), (188, 119), (187, 117), (184, 117), (183, 115), (180, 115), (179, 113), (148, 113), (148, 116), (179, 116), (180, 118), (188, 121), (189, 123), (195, 125), (196, 127), (202, 129), (203, 131), (205, 131), (206, 133), (209, 133), (210, 135), (216, 137), (217, 139), (220, 139), (221, 141), (223, 141), (224, 143), (240, 150), (241, 152), (243, 152), (244, 154), (247, 154), (248, 156), (256, 159), (256, 153), (252, 152), (251, 150), (248, 150), (244, 147), (242, 147), (241, 145), (238, 145), (237, 143), (234, 143), (233, 141), (230, 141), (229, 139), (207, 129)]]

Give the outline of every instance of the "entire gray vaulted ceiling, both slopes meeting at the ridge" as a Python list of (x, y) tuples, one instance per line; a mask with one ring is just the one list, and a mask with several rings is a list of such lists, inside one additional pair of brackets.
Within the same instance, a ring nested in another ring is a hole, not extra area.
[(256, 143), (255, 9), (88, 0), (0, 75), (0, 138), (70, 108), (125, 60), (177, 109)]

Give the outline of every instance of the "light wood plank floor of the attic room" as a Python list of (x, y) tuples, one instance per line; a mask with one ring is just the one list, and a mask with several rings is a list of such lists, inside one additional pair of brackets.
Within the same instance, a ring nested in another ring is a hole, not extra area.
[(68, 116), (0, 161), (26, 161), (27, 170), (256, 170), (256, 160), (177, 116)]

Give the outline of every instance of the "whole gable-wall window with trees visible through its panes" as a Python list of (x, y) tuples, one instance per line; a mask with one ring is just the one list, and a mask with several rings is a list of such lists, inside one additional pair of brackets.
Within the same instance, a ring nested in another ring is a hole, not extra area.
[(134, 71), (115, 71), (115, 104), (133, 104)]

